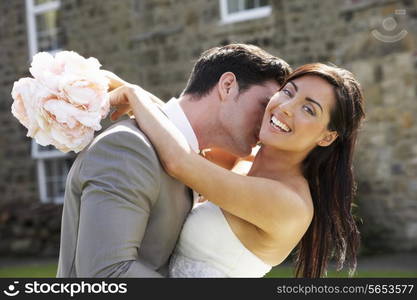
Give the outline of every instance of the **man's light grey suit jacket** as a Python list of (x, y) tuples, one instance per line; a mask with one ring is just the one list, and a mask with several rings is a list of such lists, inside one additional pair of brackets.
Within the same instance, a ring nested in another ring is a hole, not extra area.
[(114, 124), (68, 174), (57, 277), (166, 276), (189, 191), (134, 120)]

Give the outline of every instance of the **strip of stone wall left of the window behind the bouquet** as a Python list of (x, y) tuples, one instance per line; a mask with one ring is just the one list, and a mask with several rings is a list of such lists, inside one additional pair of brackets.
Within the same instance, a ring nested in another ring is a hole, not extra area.
[(36, 201), (36, 163), (26, 130), (11, 114), (13, 82), (28, 76), (25, 1), (0, 1), (0, 204)]

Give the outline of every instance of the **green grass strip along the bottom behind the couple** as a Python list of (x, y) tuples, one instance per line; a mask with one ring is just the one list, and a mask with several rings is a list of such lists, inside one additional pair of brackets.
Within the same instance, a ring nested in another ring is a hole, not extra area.
[[(56, 263), (42, 263), (42, 264), (30, 264), (22, 266), (11, 266), (0, 268), (0, 277), (11, 278), (54, 278), (56, 275), (57, 264)], [(265, 277), (268, 278), (292, 278), (293, 269), (291, 267), (275, 267)], [(328, 276), (331, 278), (343, 278), (348, 277), (346, 271), (336, 272), (329, 271)], [(354, 277), (417, 277), (417, 271), (359, 271)]]

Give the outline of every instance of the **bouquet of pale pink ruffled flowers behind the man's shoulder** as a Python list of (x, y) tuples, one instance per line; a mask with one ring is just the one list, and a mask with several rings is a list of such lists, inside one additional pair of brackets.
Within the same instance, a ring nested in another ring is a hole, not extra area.
[(73, 51), (33, 57), (30, 73), (13, 85), (12, 114), (27, 136), (62, 152), (81, 151), (110, 111), (109, 80), (101, 64)]

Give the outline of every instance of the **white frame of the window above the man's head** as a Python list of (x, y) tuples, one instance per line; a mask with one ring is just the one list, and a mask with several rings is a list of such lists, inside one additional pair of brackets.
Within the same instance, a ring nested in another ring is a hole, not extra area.
[[(243, 5), (243, 0), (240, 0), (240, 5)], [(271, 11), (271, 5), (268, 5), (229, 13), (227, 0), (220, 0), (221, 24), (229, 24), (264, 18), (269, 16), (271, 14)]]

